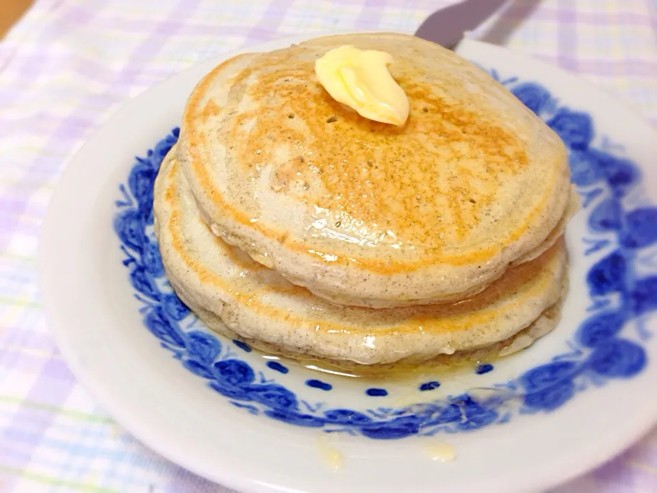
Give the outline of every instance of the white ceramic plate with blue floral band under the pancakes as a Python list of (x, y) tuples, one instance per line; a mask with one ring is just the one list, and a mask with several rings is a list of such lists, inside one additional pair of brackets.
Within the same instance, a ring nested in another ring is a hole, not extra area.
[[(185, 99), (222, 61), (210, 60), (129, 101), (96, 132), (66, 169), (44, 225), (49, 322), (75, 375), (118, 422), (172, 461), (244, 492), (539, 490), (649, 429), (657, 139), (573, 75), (478, 42), (459, 52), (571, 149), (584, 206), (567, 230), (571, 289), (558, 328), (488, 372), (376, 385), (264, 359), (208, 333), (168, 288), (149, 201)], [(342, 468), (326, 461), (322, 435)], [(456, 459), (433, 460), (437, 442)]]

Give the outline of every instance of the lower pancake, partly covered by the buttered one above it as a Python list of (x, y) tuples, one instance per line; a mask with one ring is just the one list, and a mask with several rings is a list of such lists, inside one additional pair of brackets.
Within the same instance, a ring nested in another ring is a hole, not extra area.
[(496, 344), (537, 320), (543, 333), (556, 323), (554, 317), (541, 316), (563, 292), (563, 240), (536, 260), (508, 270), (472, 299), (452, 305), (334, 305), (215, 236), (175, 152), (165, 158), (155, 181), (155, 233), (172, 288), (218, 331), (287, 355), (388, 364)]

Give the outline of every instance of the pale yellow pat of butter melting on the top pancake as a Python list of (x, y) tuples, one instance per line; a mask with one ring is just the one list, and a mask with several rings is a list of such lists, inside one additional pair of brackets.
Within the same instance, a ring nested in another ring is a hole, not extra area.
[(361, 116), (392, 125), (409, 118), (409, 98), (388, 71), (385, 51), (352, 46), (332, 49), (315, 61), (315, 74), (331, 97)]

